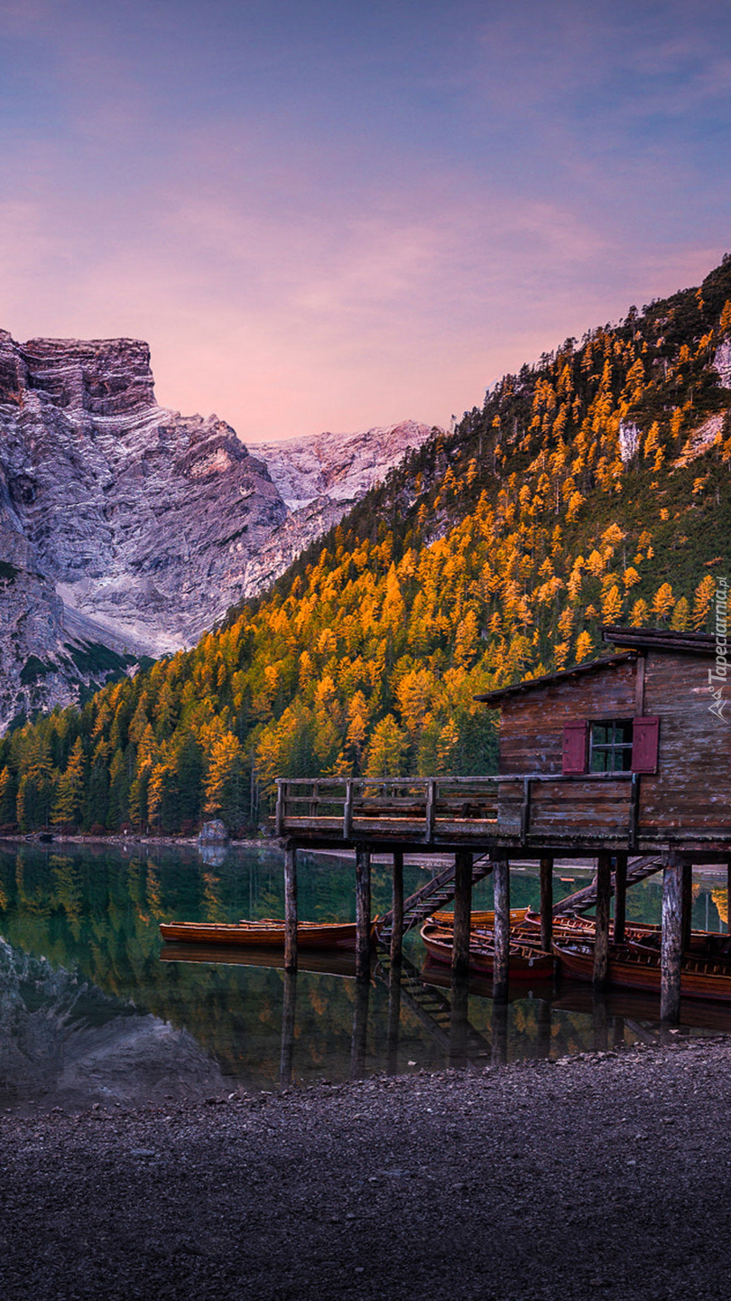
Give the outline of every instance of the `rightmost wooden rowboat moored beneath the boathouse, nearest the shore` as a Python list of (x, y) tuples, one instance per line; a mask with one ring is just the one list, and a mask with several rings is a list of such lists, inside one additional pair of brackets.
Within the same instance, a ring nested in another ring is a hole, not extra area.
[[(594, 948), (591, 943), (554, 943), (561, 969), (575, 980), (593, 978)], [(640, 945), (610, 945), (610, 985), (645, 989), (659, 994), (659, 951)], [(680, 995), (731, 1000), (731, 960), (687, 952), (680, 960)]]

